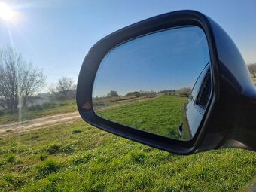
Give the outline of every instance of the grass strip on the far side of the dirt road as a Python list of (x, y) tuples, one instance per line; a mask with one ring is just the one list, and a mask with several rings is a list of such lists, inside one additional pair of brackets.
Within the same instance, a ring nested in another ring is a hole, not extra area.
[[(75, 100), (51, 102), (44, 105), (36, 105), (22, 111), (21, 120), (31, 120), (39, 117), (50, 116), (54, 114), (63, 114), (77, 111)], [(0, 124), (13, 123), (19, 121), (18, 111), (0, 114)]]

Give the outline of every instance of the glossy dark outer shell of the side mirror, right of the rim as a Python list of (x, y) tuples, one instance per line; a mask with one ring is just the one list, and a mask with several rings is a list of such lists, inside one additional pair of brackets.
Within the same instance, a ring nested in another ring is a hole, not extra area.
[[(256, 88), (231, 38), (209, 19), (218, 55), (216, 101), (199, 151), (245, 148), (256, 151)], [(213, 139), (219, 142), (212, 142)], [(212, 145), (211, 145), (212, 144)]]

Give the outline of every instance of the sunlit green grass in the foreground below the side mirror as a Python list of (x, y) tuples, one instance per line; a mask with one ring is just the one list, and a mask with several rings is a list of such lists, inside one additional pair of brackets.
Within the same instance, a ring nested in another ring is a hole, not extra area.
[(0, 146), (0, 191), (236, 191), (256, 176), (252, 151), (179, 156), (82, 120), (10, 134)]

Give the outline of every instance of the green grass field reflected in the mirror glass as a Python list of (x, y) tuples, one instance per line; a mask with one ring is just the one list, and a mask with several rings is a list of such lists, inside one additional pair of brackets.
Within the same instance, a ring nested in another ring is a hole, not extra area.
[(118, 108), (98, 111), (97, 114), (117, 123), (172, 138), (180, 138), (178, 126), (183, 123), (182, 138), (189, 139), (183, 112), (186, 102), (186, 97), (157, 96), (141, 102), (127, 103)]

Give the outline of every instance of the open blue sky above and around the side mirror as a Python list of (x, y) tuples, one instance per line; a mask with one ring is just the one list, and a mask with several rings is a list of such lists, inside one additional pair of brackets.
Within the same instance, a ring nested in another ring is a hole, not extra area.
[[(192, 9), (212, 17), (233, 38), (245, 62), (256, 62), (256, 1), (8, 0), (13, 22), (0, 20), (0, 48), (13, 44), (44, 68), (48, 84), (75, 81), (90, 47), (124, 26), (169, 11)], [(12, 43), (10, 40), (10, 35)]]

